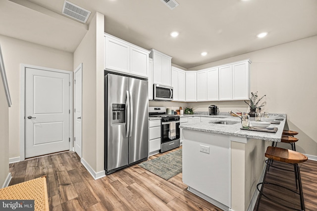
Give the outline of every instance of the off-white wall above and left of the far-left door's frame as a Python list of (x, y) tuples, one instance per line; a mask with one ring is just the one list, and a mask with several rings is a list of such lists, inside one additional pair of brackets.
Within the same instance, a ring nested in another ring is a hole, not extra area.
[(0, 35), (12, 100), (9, 109), (9, 158), (20, 157), (20, 64), (73, 70), (73, 54)]

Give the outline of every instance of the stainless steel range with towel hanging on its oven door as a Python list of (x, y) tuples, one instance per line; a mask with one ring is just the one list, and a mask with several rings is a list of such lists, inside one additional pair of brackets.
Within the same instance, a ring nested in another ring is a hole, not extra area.
[(161, 117), (160, 153), (179, 147), (179, 116), (167, 115), (165, 107), (149, 107), (149, 117)]

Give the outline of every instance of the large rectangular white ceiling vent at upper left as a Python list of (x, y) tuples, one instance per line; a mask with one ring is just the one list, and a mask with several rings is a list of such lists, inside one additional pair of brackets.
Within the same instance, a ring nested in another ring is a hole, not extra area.
[(75, 20), (78, 20), (82, 23), (86, 23), (91, 11), (88, 11), (84, 8), (77, 6), (76, 4), (73, 4), (73, 3), (65, 0), (63, 10), (61, 13), (64, 15), (67, 15), (68, 17), (71, 17)]

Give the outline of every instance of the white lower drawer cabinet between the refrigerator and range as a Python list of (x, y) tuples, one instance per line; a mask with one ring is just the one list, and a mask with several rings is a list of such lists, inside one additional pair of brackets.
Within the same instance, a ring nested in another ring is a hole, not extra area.
[(160, 120), (149, 120), (149, 156), (160, 150)]

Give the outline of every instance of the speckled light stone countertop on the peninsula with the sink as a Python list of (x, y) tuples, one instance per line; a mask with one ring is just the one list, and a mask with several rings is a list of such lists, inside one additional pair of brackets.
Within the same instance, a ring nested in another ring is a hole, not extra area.
[[(270, 114), (270, 115), (276, 115), (276, 114)], [(230, 115), (217, 115), (212, 116), (212, 120), (209, 122), (200, 122), (200, 123), (194, 123), (189, 125), (181, 125), (180, 128), (183, 129), (191, 129), (191, 130), (198, 130), (203, 132), (211, 132), (211, 133), (218, 133), (218, 134), (225, 134), (225, 135), (233, 135), (233, 136), (240, 136), (240, 137), (247, 137), (247, 138), (255, 138), (255, 139), (262, 139), (262, 140), (268, 140), (268, 141), (281, 141), (282, 132), (284, 129), (284, 125), (286, 122), (286, 114), (278, 114), (282, 118), (284, 118), (283, 121), (280, 121), (280, 124), (271, 124), (270, 127), (277, 127), (276, 133), (271, 132), (259, 132), (259, 131), (250, 131), (250, 130), (242, 130), (241, 127), (241, 119), (239, 117), (233, 117)], [(181, 117), (186, 116), (204, 116), (204, 117), (211, 117), (209, 115), (183, 115)], [(215, 118), (215, 117), (226, 117), (226, 118)], [(231, 121), (231, 122), (237, 122), (237, 124), (234, 125), (221, 125), (221, 124), (214, 124), (214, 122), (218, 121)], [(255, 121), (254, 117), (250, 118), (250, 121)]]

